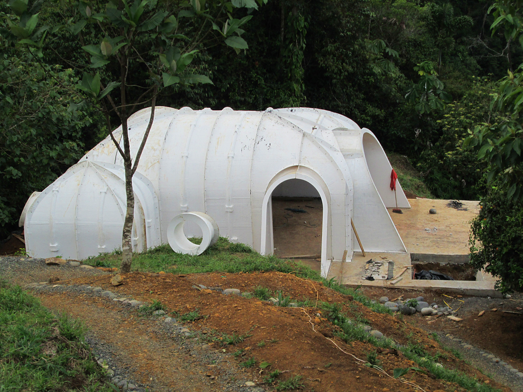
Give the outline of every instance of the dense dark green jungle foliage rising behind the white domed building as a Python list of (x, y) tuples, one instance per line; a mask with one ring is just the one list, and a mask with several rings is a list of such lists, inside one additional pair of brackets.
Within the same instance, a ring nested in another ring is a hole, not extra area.
[[(105, 3), (79, 4), (85, 11), (88, 5), (94, 9)], [(186, 3), (195, 9), (201, 6), (199, 0)], [(232, 3), (245, 6), (253, 0)], [(2, 238), (17, 228), (31, 192), (41, 191), (108, 132), (99, 101), (75, 88), (82, 79), (78, 70), (89, 64), (81, 43), (73, 39), (78, 24), (44, 31), (27, 17), (22, 22), (29, 36), (13, 39), (17, 31), (9, 19), (14, 10), (37, 7), (40, 21), (53, 27), (72, 20), (64, 12), (71, 4), (72, 0), (0, 3)], [(185, 3), (152, 4), (168, 12)], [(234, 9), (231, 18), (253, 16), (242, 26), (248, 49), (243, 43), (231, 50), (200, 42), (187, 71), (213, 84), (174, 84), (159, 91), (156, 105), (331, 110), (372, 130), (388, 151), (408, 156), (439, 198), (490, 195), (492, 183), (486, 175), (492, 173), (490, 180), (503, 177), (496, 194), (520, 203), (521, 4), (501, 1), (490, 9), (493, 4), (269, 0), (256, 10)], [(184, 22), (184, 15), (175, 16), (177, 33), (194, 35), (196, 27)], [(30, 46), (20, 38), (41, 45)], [(131, 74), (146, 74), (143, 65), (132, 67)], [(101, 77), (119, 71), (106, 67)], [(146, 79), (135, 77), (129, 96), (150, 88)], [(118, 117), (109, 117), (116, 128)], [(463, 141), (469, 136), (474, 141), (465, 148)]]

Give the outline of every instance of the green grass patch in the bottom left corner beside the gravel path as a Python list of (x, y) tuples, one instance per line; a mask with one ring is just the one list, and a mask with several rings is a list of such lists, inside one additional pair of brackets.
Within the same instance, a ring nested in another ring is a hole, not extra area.
[(83, 334), (78, 321), (53, 316), (20, 287), (2, 287), (0, 390), (113, 391)]

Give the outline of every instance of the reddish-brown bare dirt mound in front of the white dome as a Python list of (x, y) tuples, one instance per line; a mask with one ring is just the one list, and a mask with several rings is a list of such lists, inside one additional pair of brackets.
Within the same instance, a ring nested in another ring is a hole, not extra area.
[[(337, 327), (327, 320), (323, 310), (314, 305), (337, 302), (343, 303), (343, 312), (351, 318), (370, 324), (372, 329), (381, 331), (397, 343), (419, 344), (428, 355), (444, 354), (439, 361), (445, 367), (466, 372), (499, 389), (509, 390), (445, 352), (426, 331), (396, 317), (375, 313), (351, 296), (341, 295), (319, 282), (300, 279), (292, 274), (176, 275), (134, 272), (122, 276), (124, 284), (118, 287), (110, 284), (110, 275), (89, 276), (76, 279), (74, 283), (100, 286), (119, 296), (145, 302), (156, 299), (169, 312), (176, 312), (178, 317), (197, 310), (198, 319), (189, 328), (199, 330), (211, 346), (236, 353), (238, 362), (254, 358), (255, 365), (249, 370), (257, 383), (263, 383), (271, 372), (279, 370), (283, 373), (276, 378), (277, 381), (301, 375), (305, 390), (342, 392), (363, 388), (411, 392), (415, 389), (412, 384), (391, 377), (395, 368), (418, 366), (401, 352), (377, 350), (371, 344), (360, 341), (346, 343), (335, 336), (333, 332)], [(222, 289), (237, 288), (251, 293), (256, 287), (263, 286), (271, 291), (281, 291), (283, 296), (290, 296), (292, 300), (307, 299), (312, 306), (278, 307), (257, 298), (197, 289), (194, 287), (197, 284)], [(226, 344), (231, 340), (235, 344)], [(375, 351), (384, 372), (365, 365), (368, 354)], [(261, 368), (263, 362), (270, 365)], [(425, 391), (462, 390), (456, 384), (433, 378), (428, 372), (410, 371), (408, 379)]]

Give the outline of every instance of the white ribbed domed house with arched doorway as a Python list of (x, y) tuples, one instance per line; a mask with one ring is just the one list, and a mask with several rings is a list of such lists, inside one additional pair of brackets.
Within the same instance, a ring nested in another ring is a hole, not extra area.
[[(129, 118), (132, 154), (149, 114), (143, 109)], [(114, 132), (117, 140), (121, 133)], [(326, 110), (157, 107), (133, 177), (133, 250), (167, 243), (173, 218), (202, 212), (220, 235), (271, 254), (276, 191), (321, 198), (323, 276), (331, 261), (344, 253), (350, 261), (360, 250), (351, 219), (365, 251), (406, 252), (386, 210), (396, 206), (391, 169), (371, 131)], [(397, 204), (410, 207), (399, 183)], [(120, 248), (125, 205), (122, 158), (108, 136), (28, 200), (20, 218), (26, 251), (85, 259)], [(186, 226), (186, 236), (202, 235), (198, 225)]]

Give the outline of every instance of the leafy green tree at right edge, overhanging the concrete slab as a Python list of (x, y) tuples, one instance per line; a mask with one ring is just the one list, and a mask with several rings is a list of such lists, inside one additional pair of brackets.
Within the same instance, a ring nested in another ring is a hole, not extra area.
[[(494, 3), (493, 33), (503, 27), (505, 38), (523, 45), (523, 2)], [(523, 64), (499, 82), (491, 109), (495, 121), (470, 131), (465, 146), (485, 159), (490, 191), (481, 200), (481, 211), (472, 222), (471, 262), (501, 279), (503, 291), (523, 291)]]

